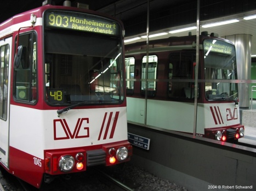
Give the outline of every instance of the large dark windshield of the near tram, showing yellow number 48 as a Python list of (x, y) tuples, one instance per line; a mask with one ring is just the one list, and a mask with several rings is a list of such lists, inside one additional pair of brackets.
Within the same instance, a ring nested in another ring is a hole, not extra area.
[[(71, 22), (67, 18), (72, 17), (62, 16), (62, 23)], [(123, 102), (120, 32), (110, 35), (58, 27), (44, 32), (45, 90), (50, 104)]]

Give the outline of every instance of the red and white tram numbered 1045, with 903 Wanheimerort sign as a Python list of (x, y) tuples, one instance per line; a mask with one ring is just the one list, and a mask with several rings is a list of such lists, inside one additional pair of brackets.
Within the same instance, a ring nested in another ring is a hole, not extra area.
[(123, 37), (112, 17), (54, 5), (0, 25), (7, 171), (39, 188), (55, 175), (130, 160)]

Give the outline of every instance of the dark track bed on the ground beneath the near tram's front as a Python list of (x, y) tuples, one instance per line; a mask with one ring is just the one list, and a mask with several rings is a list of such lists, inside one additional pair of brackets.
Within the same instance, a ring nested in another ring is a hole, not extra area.
[[(3, 171), (3, 169), (1, 169)], [(13, 175), (4, 172), (2, 174), (1, 183), (3, 184), (4, 191), (82, 191), (82, 190), (105, 190), (105, 191), (133, 191), (127, 185), (116, 180), (108, 175), (100, 168), (91, 168), (87, 172), (81, 174), (72, 174), (72, 176), (59, 176), (48, 184), (43, 183), (40, 189), (37, 189), (30, 184), (14, 177)], [(3, 180), (4, 178), (4, 180)]]

